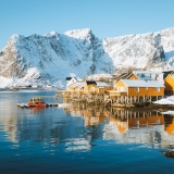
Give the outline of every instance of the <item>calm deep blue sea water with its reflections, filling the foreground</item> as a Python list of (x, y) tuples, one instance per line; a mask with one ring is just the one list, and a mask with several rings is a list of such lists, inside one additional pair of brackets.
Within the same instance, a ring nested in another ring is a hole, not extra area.
[(53, 95), (0, 92), (1, 174), (173, 173), (172, 116), (79, 104), (16, 107), (35, 96)]

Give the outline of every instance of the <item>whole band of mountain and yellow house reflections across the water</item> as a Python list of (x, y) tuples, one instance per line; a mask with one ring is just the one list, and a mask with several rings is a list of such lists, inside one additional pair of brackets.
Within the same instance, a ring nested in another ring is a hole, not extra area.
[(159, 112), (123, 109), (109, 112), (97, 105), (74, 104), (64, 109), (72, 115), (67, 116), (62, 109), (18, 110), (13, 105), (3, 110), (0, 107), (1, 127), (8, 132), (5, 138), (12, 142), (28, 139), (45, 145), (63, 142), (67, 151), (90, 150), (92, 140), (100, 137), (148, 147), (174, 144), (173, 116), (163, 116)]

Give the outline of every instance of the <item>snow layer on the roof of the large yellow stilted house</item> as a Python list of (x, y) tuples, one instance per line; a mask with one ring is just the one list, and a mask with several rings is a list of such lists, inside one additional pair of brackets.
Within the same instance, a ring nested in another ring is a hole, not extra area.
[(127, 87), (164, 87), (159, 80), (122, 79)]

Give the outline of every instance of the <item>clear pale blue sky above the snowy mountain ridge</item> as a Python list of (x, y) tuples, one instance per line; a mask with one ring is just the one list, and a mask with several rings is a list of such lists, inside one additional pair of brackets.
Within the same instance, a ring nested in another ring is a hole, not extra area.
[(99, 37), (174, 26), (174, 0), (0, 0), (0, 49), (13, 34), (91, 28)]

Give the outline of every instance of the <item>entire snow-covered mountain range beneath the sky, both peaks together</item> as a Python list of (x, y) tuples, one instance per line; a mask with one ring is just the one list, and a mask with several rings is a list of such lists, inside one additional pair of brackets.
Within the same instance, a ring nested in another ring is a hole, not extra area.
[(60, 85), (71, 73), (84, 78), (119, 67), (147, 69), (163, 61), (174, 65), (174, 28), (103, 40), (89, 28), (44, 36), (13, 35), (0, 51), (0, 80)]

